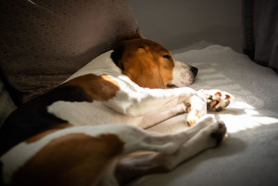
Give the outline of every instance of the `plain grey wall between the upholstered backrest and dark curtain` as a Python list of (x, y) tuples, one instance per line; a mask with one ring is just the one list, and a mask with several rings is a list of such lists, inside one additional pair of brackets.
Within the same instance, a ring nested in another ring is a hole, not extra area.
[(146, 38), (168, 49), (199, 40), (241, 52), (240, 0), (128, 0)]

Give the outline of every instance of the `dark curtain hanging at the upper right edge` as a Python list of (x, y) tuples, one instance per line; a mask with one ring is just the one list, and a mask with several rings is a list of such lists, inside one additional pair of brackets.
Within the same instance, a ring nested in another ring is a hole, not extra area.
[(278, 0), (243, 0), (243, 52), (278, 72)]

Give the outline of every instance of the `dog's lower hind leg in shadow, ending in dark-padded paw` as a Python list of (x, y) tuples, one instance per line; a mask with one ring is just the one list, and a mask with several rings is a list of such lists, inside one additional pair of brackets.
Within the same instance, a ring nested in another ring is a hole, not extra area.
[[(197, 123), (198, 125), (199, 123)], [(128, 183), (134, 178), (145, 176), (149, 173), (162, 173), (171, 171), (182, 162), (198, 153), (218, 146), (226, 134), (226, 127), (222, 122), (215, 122), (208, 125), (188, 141), (184, 142), (180, 148), (171, 155), (163, 153), (141, 153), (133, 154), (122, 158), (118, 163), (115, 176), (120, 185)]]

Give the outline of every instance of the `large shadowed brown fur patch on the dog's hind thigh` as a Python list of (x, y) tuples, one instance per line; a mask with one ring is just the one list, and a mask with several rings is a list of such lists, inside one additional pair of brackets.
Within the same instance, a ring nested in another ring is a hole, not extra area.
[(67, 134), (50, 141), (19, 168), (11, 185), (92, 185), (123, 146), (114, 134)]

